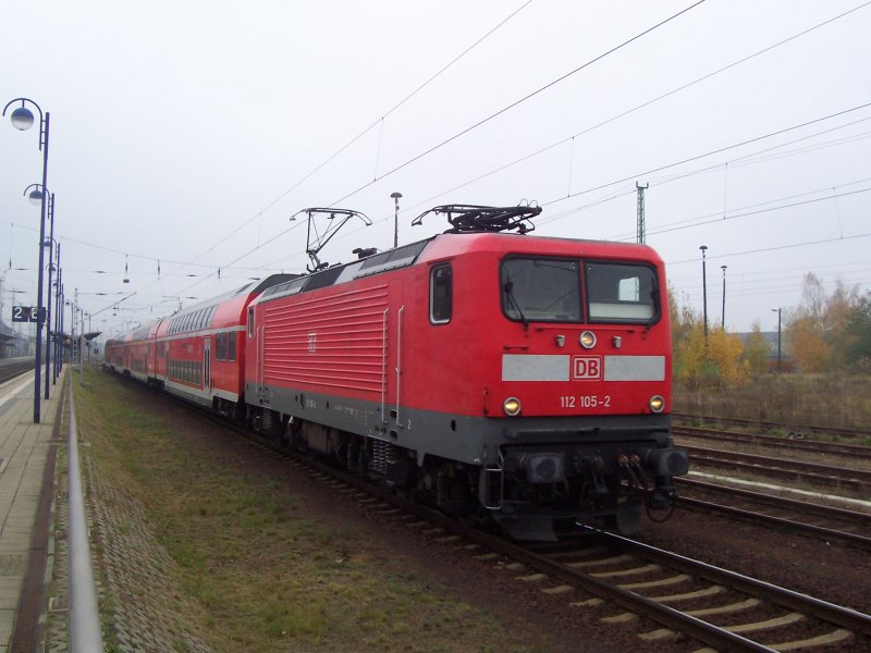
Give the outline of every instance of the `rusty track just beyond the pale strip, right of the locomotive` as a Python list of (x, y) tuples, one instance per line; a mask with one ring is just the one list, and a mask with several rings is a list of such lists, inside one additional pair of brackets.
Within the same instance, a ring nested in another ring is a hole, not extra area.
[(836, 488), (851, 492), (868, 492), (871, 471), (846, 469), (832, 465), (789, 460), (771, 456), (758, 456), (740, 452), (702, 448), (682, 445), (690, 456), (690, 466), (702, 465), (716, 469), (749, 472), (753, 476), (776, 478), (793, 482), (813, 483), (818, 486)]

